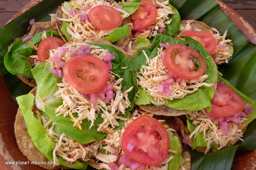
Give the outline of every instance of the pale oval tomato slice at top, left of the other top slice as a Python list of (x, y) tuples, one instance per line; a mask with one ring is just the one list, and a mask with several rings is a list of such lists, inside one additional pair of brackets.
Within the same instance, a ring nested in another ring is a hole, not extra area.
[(118, 27), (123, 19), (121, 14), (114, 8), (107, 5), (93, 7), (88, 14), (93, 25), (101, 30), (111, 30)]

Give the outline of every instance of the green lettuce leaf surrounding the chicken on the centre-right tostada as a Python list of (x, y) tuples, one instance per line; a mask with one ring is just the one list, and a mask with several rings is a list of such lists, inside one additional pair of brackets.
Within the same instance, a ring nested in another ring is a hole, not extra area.
[[(159, 43), (169, 43), (169, 44), (184, 44), (184, 45), (190, 45), (193, 47), (195, 50), (197, 50), (206, 60), (207, 63), (207, 69), (205, 71), (205, 74), (208, 74), (209, 77), (205, 80), (206, 83), (214, 83), (216, 77), (217, 77), (217, 68), (215, 66), (215, 63), (211, 60), (209, 57), (209, 54), (205, 51), (205, 49), (202, 47), (202, 45), (198, 42), (193, 40), (190, 37), (184, 37), (184, 41), (179, 41), (176, 38), (166, 36), (163, 34), (157, 35), (153, 42), (152, 46), (155, 47), (152, 51), (150, 49), (145, 50), (146, 54), (148, 55), (148, 58), (152, 59), (156, 56), (157, 51), (160, 46)], [(142, 50), (138, 51), (137, 54), (135, 54), (131, 60), (135, 64), (134, 72), (139, 72), (141, 69), (141, 66), (146, 63), (146, 58), (144, 54), (142, 53)], [(211, 102), (210, 100), (213, 98), (213, 88), (212, 87), (205, 87), (202, 86), (200, 87), (196, 92), (193, 94), (187, 94), (184, 98), (181, 99), (174, 99), (174, 100), (167, 100), (164, 105), (182, 110), (201, 110), (206, 107), (211, 108)], [(138, 93), (138, 96), (135, 99), (135, 104), (140, 105), (140, 104), (150, 104), (153, 103), (156, 106), (162, 105), (163, 102), (157, 102), (155, 101), (150, 95), (147, 93), (144, 93), (141, 87), (137, 88), (137, 91), (140, 91)]]

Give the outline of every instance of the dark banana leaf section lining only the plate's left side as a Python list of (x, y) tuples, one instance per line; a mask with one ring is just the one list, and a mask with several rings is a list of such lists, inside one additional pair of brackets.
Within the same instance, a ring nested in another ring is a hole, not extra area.
[(0, 29), (0, 73), (15, 101), (17, 96), (27, 94), (32, 87), (20, 81), (16, 75), (12, 75), (4, 67), (4, 55), (7, 53), (8, 45), (15, 38), (22, 37), (26, 33), (29, 20), (35, 19), (36, 22), (50, 21), (49, 14), (54, 14), (58, 5), (63, 2), (64, 0), (42, 1)]

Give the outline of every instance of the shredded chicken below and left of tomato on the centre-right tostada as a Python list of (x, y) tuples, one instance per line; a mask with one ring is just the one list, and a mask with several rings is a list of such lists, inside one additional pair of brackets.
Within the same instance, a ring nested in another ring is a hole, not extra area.
[(143, 91), (153, 96), (156, 101), (164, 101), (165, 99), (173, 100), (176, 98), (183, 98), (185, 95), (194, 93), (201, 86), (213, 87), (214, 84), (207, 84), (204, 81), (209, 75), (202, 75), (196, 80), (182, 79), (179, 83), (174, 80), (174, 83), (169, 85), (172, 94), (166, 96), (158, 93), (158, 85), (169, 79), (168, 69), (164, 66), (161, 55), (164, 55), (165, 49), (158, 48), (157, 56), (149, 59), (144, 52), (147, 59), (146, 65), (142, 66), (141, 72), (137, 73), (139, 79), (138, 85), (143, 88)]

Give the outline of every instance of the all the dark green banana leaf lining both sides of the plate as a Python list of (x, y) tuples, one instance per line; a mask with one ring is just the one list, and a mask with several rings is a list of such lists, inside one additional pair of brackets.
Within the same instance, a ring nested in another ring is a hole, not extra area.
[[(16, 76), (7, 72), (3, 64), (3, 57), (7, 53), (8, 45), (17, 37), (25, 34), (29, 20), (50, 21), (48, 14), (53, 14), (64, 0), (44, 0), (21, 16), (0, 29), (0, 73), (13, 98), (27, 94), (31, 89)], [(214, 0), (170, 0), (178, 11), (181, 20), (195, 19), (216, 28), (221, 34), (226, 30), (227, 38), (232, 40), (234, 47), (233, 58), (228, 64), (219, 67), (222, 77), (235, 88), (256, 100), (256, 46), (247, 41), (247, 37), (236, 27)], [(237, 149), (254, 150), (256, 147), (256, 120), (248, 125), (244, 134), (244, 142), (207, 155), (191, 151), (191, 169), (230, 169)]]

